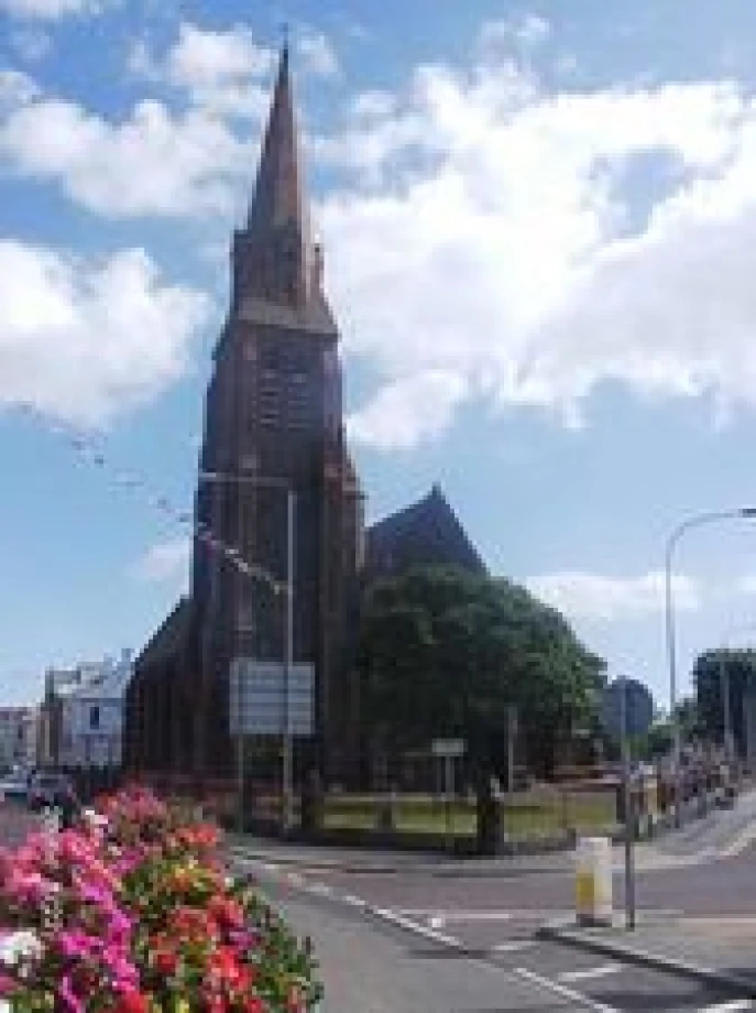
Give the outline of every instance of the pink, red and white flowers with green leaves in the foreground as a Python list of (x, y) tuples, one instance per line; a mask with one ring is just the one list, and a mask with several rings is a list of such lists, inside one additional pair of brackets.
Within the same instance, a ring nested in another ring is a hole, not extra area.
[(305, 1013), (320, 998), (299, 945), (215, 827), (142, 788), (105, 820), (0, 852), (0, 994), (18, 1011)]

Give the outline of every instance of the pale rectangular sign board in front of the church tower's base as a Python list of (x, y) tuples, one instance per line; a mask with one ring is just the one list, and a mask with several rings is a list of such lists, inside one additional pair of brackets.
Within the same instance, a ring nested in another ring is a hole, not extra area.
[[(231, 736), (314, 734), (315, 666), (297, 663), (286, 674), (281, 662), (235, 657), (229, 685), (229, 731)], [(285, 728), (288, 710), (288, 728)]]

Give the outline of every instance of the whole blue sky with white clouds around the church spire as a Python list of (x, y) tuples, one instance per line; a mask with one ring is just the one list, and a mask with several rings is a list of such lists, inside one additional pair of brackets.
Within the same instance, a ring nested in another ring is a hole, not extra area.
[[(0, 0), (0, 697), (185, 585), (152, 501), (191, 502), (285, 18), (370, 518), (439, 481), (664, 701), (665, 541), (756, 503), (756, 9), (260, 7)], [(675, 579), (684, 686), (756, 640), (753, 525)]]

